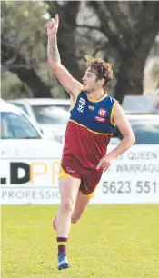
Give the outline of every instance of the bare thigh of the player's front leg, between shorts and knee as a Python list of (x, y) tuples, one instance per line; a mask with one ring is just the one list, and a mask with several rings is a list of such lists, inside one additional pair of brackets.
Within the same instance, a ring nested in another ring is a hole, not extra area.
[(65, 177), (59, 179), (59, 191), (61, 195), (61, 201), (71, 199), (75, 201), (79, 191), (81, 180), (75, 177)]

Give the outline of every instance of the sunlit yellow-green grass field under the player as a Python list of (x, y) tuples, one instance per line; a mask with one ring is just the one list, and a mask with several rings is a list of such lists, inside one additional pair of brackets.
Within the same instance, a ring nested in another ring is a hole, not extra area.
[(159, 277), (159, 205), (90, 205), (72, 226), (70, 269), (56, 269), (55, 205), (3, 206), (3, 278)]

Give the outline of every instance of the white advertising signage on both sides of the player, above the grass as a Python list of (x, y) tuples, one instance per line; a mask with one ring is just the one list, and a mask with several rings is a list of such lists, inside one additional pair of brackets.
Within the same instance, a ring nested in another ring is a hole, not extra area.
[[(59, 165), (60, 158), (2, 159), (1, 204), (59, 204)], [(159, 145), (134, 145), (115, 159), (91, 203), (159, 203)]]

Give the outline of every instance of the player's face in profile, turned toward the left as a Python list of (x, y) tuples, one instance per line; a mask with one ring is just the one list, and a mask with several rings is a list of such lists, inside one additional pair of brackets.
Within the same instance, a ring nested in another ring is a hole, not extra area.
[(83, 80), (83, 85), (84, 85), (84, 91), (87, 93), (99, 88), (99, 82), (96, 78), (96, 75), (91, 70), (91, 68), (88, 68), (86, 70), (82, 80)]

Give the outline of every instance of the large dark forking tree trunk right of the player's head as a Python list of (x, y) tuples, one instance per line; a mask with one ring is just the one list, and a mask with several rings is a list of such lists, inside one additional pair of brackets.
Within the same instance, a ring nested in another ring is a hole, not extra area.
[(138, 7), (139, 13), (132, 14), (132, 23), (120, 1), (90, 1), (89, 5), (94, 8), (101, 30), (117, 54), (114, 56), (117, 65), (114, 97), (121, 103), (125, 94), (143, 94), (144, 64), (159, 30), (159, 2), (138, 1), (135, 9)]

